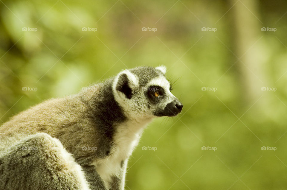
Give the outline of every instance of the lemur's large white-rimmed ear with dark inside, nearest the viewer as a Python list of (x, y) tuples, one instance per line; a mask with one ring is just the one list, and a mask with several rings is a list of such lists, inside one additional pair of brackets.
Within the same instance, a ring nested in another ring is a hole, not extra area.
[(117, 78), (116, 91), (122, 92), (126, 98), (132, 98), (132, 90), (138, 86), (138, 80), (134, 74), (128, 70), (122, 71)]

